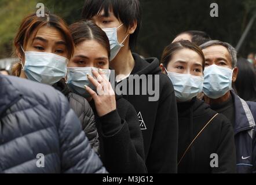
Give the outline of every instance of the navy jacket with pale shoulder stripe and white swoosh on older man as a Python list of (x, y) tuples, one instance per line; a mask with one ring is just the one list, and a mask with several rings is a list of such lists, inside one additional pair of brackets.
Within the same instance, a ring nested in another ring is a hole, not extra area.
[(256, 173), (256, 103), (246, 102), (231, 91), (235, 103), (237, 173)]

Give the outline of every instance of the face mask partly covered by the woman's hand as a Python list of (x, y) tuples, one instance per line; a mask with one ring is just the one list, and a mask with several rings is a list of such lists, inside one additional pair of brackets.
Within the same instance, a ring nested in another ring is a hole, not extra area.
[[(98, 71), (97, 68), (87, 67), (87, 68), (67, 68), (67, 84), (70, 90), (75, 94), (81, 95), (84, 98), (89, 98), (90, 94), (85, 90), (85, 86), (92, 88), (96, 91), (96, 87), (87, 78), (87, 74), (93, 76), (92, 69)], [(110, 78), (110, 69), (102, 69), (105, 73), (107, 79)]]

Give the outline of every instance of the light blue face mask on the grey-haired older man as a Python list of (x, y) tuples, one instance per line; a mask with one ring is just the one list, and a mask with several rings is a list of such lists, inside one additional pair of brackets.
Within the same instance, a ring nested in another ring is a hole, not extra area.
[(204, 69), (203, 93), (212, 99), (223, 97), (232, 90), (233, 70), (217, 65)]

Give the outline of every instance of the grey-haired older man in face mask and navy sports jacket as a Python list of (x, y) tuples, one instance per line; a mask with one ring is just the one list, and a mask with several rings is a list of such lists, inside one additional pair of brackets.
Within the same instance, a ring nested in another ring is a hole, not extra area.
[(236, 50), (218, 40), (211, 40), (200, 47), (206, 60), (204, 101), (210, 104), (211, 109), (224, 114), (233, 125), (237, 172), (256, 173), (256, 103), (244, 101), (232, 90), (238, 73)]

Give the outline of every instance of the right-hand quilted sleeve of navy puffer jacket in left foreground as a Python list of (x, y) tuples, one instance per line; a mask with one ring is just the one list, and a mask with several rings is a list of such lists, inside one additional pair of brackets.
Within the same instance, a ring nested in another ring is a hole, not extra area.
[(94, 153), (82, 131), (81, 124), (67, 100), (59, 93), (61, 172), (62, 173), (107, 173), (100, 158)]

